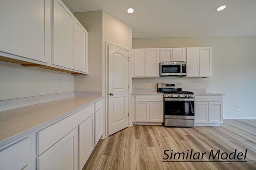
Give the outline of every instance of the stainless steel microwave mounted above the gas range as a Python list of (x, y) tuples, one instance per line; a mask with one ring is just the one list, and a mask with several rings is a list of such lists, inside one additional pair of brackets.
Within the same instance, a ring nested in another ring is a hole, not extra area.
[(160, 77), (161, 76), (186, 76), (186, 63), (185, 62), (161, 62)]

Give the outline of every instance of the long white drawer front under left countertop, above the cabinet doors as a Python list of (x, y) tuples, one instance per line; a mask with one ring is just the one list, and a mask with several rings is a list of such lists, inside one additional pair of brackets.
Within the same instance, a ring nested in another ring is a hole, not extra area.
[(94, 114), (94, 104), (54, 123), (36, 133), (36, 152), (42, 154), (46, 149), (62, 139), (72, 129)]

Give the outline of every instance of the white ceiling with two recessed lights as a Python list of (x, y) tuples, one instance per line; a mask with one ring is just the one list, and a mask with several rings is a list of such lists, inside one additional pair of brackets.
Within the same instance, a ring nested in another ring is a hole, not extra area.
[[(256, 0), (66, 1), (74, 12), (103, 10), (118, 18), (132, 27), (133, 38), (256, 35)], [(225, 3), (225, 10), (214, 10)]]

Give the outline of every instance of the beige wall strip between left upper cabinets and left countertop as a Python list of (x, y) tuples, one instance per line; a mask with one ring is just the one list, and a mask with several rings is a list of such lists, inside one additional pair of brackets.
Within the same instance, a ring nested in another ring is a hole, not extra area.
[[(57, 84), (56, 79), (62, 79)], [(74, 75), (0, 61), (0, 100), (73, 92)]]

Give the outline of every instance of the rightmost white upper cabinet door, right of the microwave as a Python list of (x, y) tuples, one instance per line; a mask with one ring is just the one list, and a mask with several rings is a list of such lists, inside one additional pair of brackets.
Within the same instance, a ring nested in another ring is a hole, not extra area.
[(212, 47), (199, 48), (200, 77), (212, 76)]

